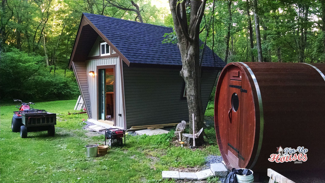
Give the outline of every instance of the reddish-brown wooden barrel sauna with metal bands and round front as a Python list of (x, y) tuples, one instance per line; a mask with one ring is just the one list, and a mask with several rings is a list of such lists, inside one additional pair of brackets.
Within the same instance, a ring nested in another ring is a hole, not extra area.
[[(232, 62), (216, 86), (214, 123), (229, 168), (323, 168), (325, 64)], [(308, 149), (302, 163), (269, 162), (277, 147)]]

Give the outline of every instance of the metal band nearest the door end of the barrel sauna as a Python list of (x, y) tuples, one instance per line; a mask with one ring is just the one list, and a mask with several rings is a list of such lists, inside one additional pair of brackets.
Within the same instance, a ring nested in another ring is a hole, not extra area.
[(251, 74), (255, 88), (256, 88), (256, 93), (257, 93), (257, 99), (258, 99), (258, 105), (259, 105), (259, 109), (260, 109), (260, 137), (258, 139), (258, 146), (257, 146), (257, 151), (256, 151), (256, 155), (254, 158), (254, 161), (251, 165), (251, 167), (249, 169), (252, 169), (255, 165), (255, 163), (257, 162), (258, 156), (260, 155), (261, 152), (261, 147), (262, 147), (262, 142), (263, 142), (263, 130), (264, 130), (264, 112), (263, 112), (263, 104), (262, 104), (262, 96), (261, 96), (261, 91), (260, 91), (260, 87), (258, 86), (256, 77), (252, 71), (252, 69), (245, 63), (243, 62), (239, 62), (242, 65), (244, 65), (246, 67), (246, 69), (248, 70), (248, 72)]

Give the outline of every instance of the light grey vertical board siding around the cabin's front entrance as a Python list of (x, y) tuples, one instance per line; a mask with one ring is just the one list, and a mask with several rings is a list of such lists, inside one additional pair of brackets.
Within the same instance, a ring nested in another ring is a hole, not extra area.
[[(123, 122), (123, 98), (122, 98), (122, 85), (121, 85), (121, 70), (120, 70), (120, 59), (119, 57), (115, 58), (107, 58), (107, 59), (96, 59), (96, 60), (87, 60), (86, 61), (86, 70), (94, 71), (95, 76), (88, 77), (88, 88), (89, 88), (89, 98), (90, 98), (90, 110), (92, 113), (92, 119), (98, 120), (98, 73), (97, 66), (105, 66), (105, 65), (115, 65), (115, 124), (116, 126), (124, 127)], [(119, 116), (121, 114), (122, 116)]]

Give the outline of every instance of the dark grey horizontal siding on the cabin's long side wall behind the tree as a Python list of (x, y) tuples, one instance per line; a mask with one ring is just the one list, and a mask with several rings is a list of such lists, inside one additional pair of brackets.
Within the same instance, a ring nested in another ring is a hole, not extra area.
[[(179, 69), (123, 66), (126, 126), (188, 122), (187, 100), (181, 99)], [(205, 111), (217, 71), (202, 71)]]

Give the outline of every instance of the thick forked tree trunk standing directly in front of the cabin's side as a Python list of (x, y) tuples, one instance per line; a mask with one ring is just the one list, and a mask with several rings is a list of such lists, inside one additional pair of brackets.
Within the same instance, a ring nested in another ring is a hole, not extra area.
[[(203, 127), (203, 107), (201, 100), (201, 63), (199, 34), (200, 23), (204, 14), (206, 0), (190, 2), (190, 21), (188, 26), (186, 1), (169, 0), (174, 21), (175, 33), (182, 59), (181, 77), (186, 83), (186, 98), (188, 103), (189, 131), (193, 133), (192, 113), (194, 113), (194, 131), (197, 133)], [(189, 29), (188, 29), (189, 27)], [(203, 131), (204, 134), (204, 131)], [(203, 142), (203, 135), (198, 144)]]

